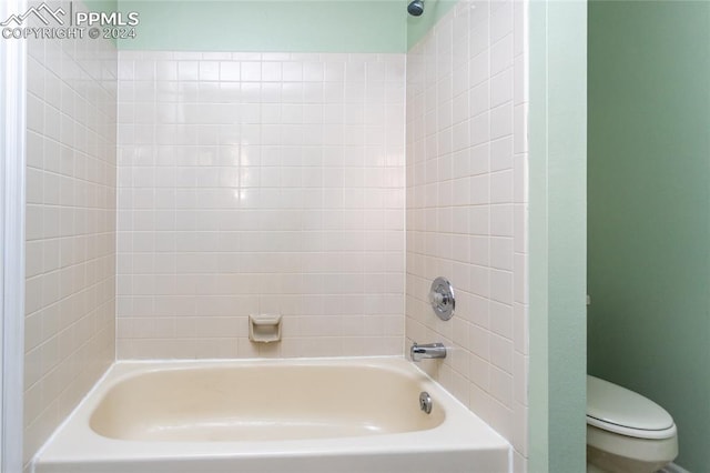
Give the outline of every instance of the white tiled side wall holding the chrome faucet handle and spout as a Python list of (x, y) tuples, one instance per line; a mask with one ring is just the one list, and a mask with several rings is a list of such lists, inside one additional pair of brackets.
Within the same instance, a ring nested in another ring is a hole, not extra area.
[[(460, 1), (407, 54), (406, 338), (527, 457), (527, 2)], [(443, 322), (427, 294), (456, 291)]]

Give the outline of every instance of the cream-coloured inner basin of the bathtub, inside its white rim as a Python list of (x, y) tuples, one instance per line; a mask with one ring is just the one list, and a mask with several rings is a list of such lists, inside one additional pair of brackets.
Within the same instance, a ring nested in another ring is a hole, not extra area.
[[(422, 375), (423, 376), (423, 375)], [(267, 441), (434, 429), (422, 376), (373, 365), (252, 364), (138, 374), (109, 390), (90, 417), (99, 435), (133, 441)]]

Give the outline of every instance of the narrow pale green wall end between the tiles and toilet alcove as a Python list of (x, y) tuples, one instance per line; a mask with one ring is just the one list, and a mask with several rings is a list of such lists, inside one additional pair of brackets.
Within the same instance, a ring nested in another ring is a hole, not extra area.
[(587, 2), (530, 3), (532, 473), (586, 463)]

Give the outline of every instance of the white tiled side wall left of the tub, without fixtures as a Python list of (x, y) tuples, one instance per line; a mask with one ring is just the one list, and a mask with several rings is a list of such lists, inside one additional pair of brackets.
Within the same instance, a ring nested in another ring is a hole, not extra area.
[(114, 360), (116, 177), (113, 44), (28, 49), (26, 463)]

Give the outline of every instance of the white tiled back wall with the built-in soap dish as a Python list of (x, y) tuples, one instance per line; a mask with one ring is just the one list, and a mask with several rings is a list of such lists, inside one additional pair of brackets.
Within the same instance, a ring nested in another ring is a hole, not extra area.
[[(119, 358), (398, 354), (405, 54), (121, 51)], [(250, 313), (284, 340), (247, 340)]]

